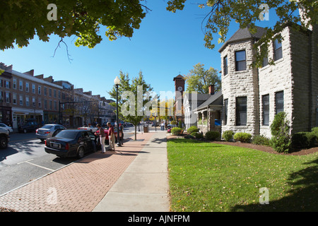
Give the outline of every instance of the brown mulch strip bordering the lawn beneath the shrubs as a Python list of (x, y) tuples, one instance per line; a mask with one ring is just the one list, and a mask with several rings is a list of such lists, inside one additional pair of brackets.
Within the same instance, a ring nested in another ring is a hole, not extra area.
[[(170, 135), (167, 136), (167, 139), (174, 139), (178, 138), (180, 136)], [(276, 150), (273, 150), (273, 148), (264, 146), (264, 145), (256, 145), (253, 143), (241, 143), (241, 142), (228, 142), (228, 141), (206, 141), (211, 143), (219, 143), (224, 145), (234, 145), (242, 148), (251, 148), (255, 150), (261, 150), (266, 153), (276, 154), (276, 155), (308, 155), (311, 153), (316, 153), (318, 151), (318, 147), (309, 148), (309, 149), (302, 149), (302, 150), (295, 150), (292, 153), (284, 154), (284, 153), (278, 153)]]

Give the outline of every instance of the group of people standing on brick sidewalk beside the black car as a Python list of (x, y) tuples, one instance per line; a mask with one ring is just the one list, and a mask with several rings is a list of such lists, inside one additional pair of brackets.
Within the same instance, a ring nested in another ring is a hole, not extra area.
[[(100, 124), (96, 125), (98, 127), (98, 131), (96, 131), (95, 135), (100, 136), (100, 145), (102, 145), (102, 153), (105, 153), (105, 131), (102, 128), (102, 126), (100, 126)], [(107, 123), (108, 126), (108, 140), (110, 141), (110, 150), (115, 150), (115, 136), (114, 136), (114, 127), (112, 126), (112, 124), (110, 124), (110, 122)], [(119, 124), (119, 135), (118, 135), (118, 143), (119, 144), (123, 144), (123, 140), (124, 140), (124, 131), (122, 128), (122, 124)]]

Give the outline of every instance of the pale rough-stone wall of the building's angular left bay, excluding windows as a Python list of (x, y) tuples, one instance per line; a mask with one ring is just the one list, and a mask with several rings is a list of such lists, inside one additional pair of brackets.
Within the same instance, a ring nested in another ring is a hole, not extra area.
[[(228, 56), (228, 74), (222, 71), (222, 93), (223, 101), (228, 99), (228, 120), (225, 124), (223, 107), (222, 131), (232, 130), (247, 132), (255, 135), (259, 133), (259, 88), (257, 69), (249, 68), (254, 59), (254, 40), (245, 40), (228, 44), (221, 52), (222, 69), (223, 58)], [(247, 69), (235, 71), (235, 51), (245, 49)], [(236, 97), (247, 97), (247, 125), (236, 126)]]

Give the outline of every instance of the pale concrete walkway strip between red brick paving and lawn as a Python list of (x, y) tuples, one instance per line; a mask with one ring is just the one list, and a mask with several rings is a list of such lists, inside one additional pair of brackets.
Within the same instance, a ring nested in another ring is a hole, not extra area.
[(169, 211), (166, 133), (154, 133), (93, 211)]

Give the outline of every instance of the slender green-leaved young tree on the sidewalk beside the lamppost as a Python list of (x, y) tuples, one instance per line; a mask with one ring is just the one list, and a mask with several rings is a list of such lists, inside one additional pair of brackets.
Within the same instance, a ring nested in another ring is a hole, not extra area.
[[(128, 73), (119, 71), (120, 85), (118, 87), (118, 111), (119, 119), (129, 121), (135, 126), (135, 140), (137, 134), (137, 126), (145, 116), (144, 106), (151, 102), (155, 97), (149, 95), (153, 91), (151, 85), (143, 79), (143, 73), (140, 71), (136, 78), (129, 78)], [(110, 97), (116, 100), (117, 92), (114, 85), (112, 90), (108, 92)], [(157, 101), (157, 100), (155, 100)], [(111, 103), (116, 106), (116, 102)]]

